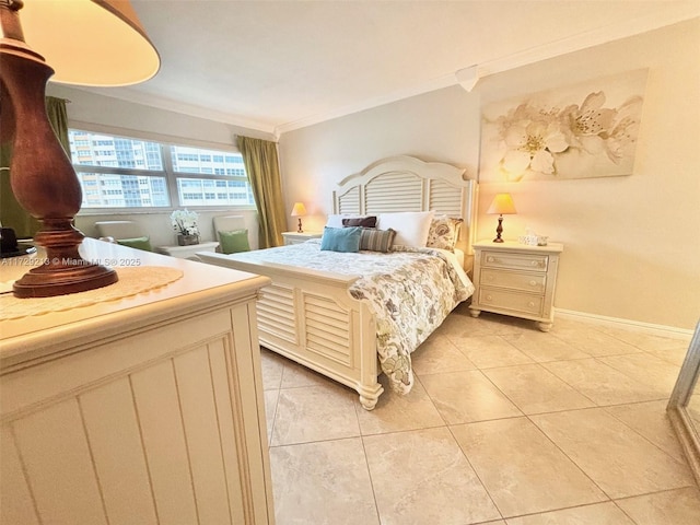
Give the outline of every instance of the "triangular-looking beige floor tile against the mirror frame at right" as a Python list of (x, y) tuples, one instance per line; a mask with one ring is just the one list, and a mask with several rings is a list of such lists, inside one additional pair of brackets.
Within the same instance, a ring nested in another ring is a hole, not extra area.
[(666, 413), (667, 400), (607, 407), (606, 410), (642, 434), (677, 462), (685, 463), (682, 447)]

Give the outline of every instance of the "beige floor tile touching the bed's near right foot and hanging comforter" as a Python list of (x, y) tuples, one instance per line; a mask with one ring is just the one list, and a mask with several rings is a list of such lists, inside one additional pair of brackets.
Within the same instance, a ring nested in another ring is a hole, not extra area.
[(374, 410), (365, 410), (359, 400), (355, 401), (362, 435), (445, 425), (420, 380), (405, 396), (389, 389), (385, 375), (380, 376), (380, 383), (384, 386), (384, 394)]

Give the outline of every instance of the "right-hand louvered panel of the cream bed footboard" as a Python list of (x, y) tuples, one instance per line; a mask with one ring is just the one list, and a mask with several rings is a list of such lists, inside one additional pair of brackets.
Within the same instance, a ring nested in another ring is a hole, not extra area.
[(351, 313), (324, 296), (306, 293), (303, 301), (306, 349), (352, 368)]

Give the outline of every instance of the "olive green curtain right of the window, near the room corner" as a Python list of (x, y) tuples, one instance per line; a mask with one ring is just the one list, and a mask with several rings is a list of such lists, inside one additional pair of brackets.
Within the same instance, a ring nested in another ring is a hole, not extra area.
[(280, 246), (282, 232), (287, 229), (287, 217), (277, 144), (269, 140), (238, 137), (238, 150), (258, 209), (260, 248)]

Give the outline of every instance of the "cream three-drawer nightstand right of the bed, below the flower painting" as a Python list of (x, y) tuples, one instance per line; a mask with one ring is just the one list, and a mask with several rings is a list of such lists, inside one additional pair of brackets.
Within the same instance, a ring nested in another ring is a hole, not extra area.
[(549, 331), (555, 320), (553, 302), (562, 244), (526, 246), (491, 241), (474, 245), (474, 285), (469, 312), (512, 315), (537, 322)]

